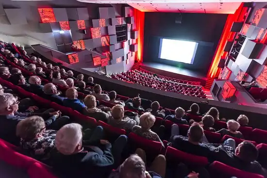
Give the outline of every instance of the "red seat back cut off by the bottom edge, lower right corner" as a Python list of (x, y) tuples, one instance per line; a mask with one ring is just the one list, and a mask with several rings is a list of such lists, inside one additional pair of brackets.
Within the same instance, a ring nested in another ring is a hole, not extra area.
[(209, 172), (212, 178), (264, 178), (264, 176), (241, 171), (221, 162), (213, 162), (209, 165)]

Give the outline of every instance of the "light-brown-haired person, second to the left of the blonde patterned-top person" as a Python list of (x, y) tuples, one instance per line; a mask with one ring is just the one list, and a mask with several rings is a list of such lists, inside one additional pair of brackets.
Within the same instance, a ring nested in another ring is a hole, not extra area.
[(97, 108), (96, 97), (93, 95), (87, 95), (84, 98), (85, 108), (83, 109), (83, 114), (89, 117), (95, 118), (97, 121), (108, 122), (110, 114), (110, 108)]

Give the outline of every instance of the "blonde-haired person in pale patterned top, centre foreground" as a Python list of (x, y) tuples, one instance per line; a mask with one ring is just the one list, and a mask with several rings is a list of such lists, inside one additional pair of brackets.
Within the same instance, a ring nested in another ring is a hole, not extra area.
[(140, 124), (139, 126), (133, 127), (133, 132), (141, 137), (144, 137), (148, 140), (152, 140), (155, 142), (160, 142), (164, 147), (163, 142), (159, 138), (158, 134), (153, 132), (150, 128), (154, 125), (156, 118), (151, 113), (143, 113), (140, 116)]

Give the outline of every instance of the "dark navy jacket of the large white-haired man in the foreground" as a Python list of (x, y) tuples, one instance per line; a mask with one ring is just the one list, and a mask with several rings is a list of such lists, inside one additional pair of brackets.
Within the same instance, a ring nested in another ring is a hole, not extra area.
[(103, 178), (112, 170), (114, 158), (111, 144), (86, 146), (83, 151), (73, 155), (56, 153), (52, 156), (52, 166), (60, 178)]

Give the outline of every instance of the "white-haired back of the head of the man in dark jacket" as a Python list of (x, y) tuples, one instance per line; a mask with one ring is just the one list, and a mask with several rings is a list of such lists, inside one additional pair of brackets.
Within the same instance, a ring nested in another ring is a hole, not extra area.
[(71, 155), (82, 142), (83, 132), (80, 124), (71, 123), (57, 131), (55, 146), (64, 155)]

